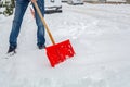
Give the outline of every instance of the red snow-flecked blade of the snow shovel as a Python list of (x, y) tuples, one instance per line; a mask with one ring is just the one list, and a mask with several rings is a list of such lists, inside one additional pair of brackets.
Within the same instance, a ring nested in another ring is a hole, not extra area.
[(75, 54), (69, 40), (47, 47), (46, 50), (52, 67)]

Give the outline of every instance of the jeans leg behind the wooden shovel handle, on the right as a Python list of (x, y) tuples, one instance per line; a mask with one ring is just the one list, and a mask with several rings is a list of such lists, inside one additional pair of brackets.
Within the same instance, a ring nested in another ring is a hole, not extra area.
[[(38, 3), (38, 7), (42, 13), (42, 15), (44, 16), (44, 0), (38, 0), (37, 1)], [(35, 16), (36, 16), (36, 24), (37, 24), (37, 45), (40, 46), (40, 45), (44, 45), (46, 42), (46, 38), (44, 38), (44, 26), (35, 9)]]

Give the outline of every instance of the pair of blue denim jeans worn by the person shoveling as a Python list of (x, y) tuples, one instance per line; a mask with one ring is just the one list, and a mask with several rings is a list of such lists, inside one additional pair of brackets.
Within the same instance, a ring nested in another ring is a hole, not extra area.
[[(25, 11), (28, 7), (29, 0), (16, 0), (16, 5), (15, 5), (15, 14), (14, 14), (14, 20), (12, 24), (12, 30), (10, 34), (10, 46), (12, 47), (17, 47), (17, 37), (21, 30), (21, 24), (23, 21), (23, 16), (25, 14)], [(44, 16), (44, 0), (37, 0), (38, 7)], [(37, 24), (37, 45), (44, 45), (46, 38), (44, 38), (44, 26), (35, 9), (35, 17), (36, 17), (36, 24)]]

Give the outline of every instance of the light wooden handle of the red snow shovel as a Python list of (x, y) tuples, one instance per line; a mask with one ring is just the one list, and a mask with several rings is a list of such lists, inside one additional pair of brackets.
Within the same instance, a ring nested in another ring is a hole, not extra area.
[(32, 3), (34, 3), (34, 5), (35, 5), (35, 8), (36, 8), (36, 10), (37, 10), (37, 12), (38, 12), (38, 15), (39, 15), (40, 18), (41, 18), (41, 22), (43, 23), (43, 25), (44, 25), (44, 27), (46, 27), (46, 29), (47, 29), (47, 33), (49, 34), (49, 37), (50, 37), (52, 44), (55, 45), (54, 38), (52, 37), (52, 34), (51, 34), (51, 32), (50, 32), (50, 29), (49, 29), (49, 27), (48, 27), (48, 25), (47, 25), (47, 23), (46, 23), (46, 20), (43, 18), (43, 16), (42, 16), (42, 14), (41, 14), (41, 11), (40, 11), (37, 2), (35, 1), (35, 2), (32, 2)]

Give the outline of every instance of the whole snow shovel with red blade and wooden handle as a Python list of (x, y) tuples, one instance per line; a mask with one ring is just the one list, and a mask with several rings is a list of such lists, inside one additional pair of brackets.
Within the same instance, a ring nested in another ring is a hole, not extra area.
[(53, 46), (47, 47), (46, 50), (47, 50), (47, 55), (49, 58), (51, 66), (54, 67), (56, 64), (64, 62), (67, 58), (74, 57), (75, 51), (70, 45), (69, 39), (60, 44), (55, 44), (37, 2), (34, 2), (34, 4), (53, 44)]

